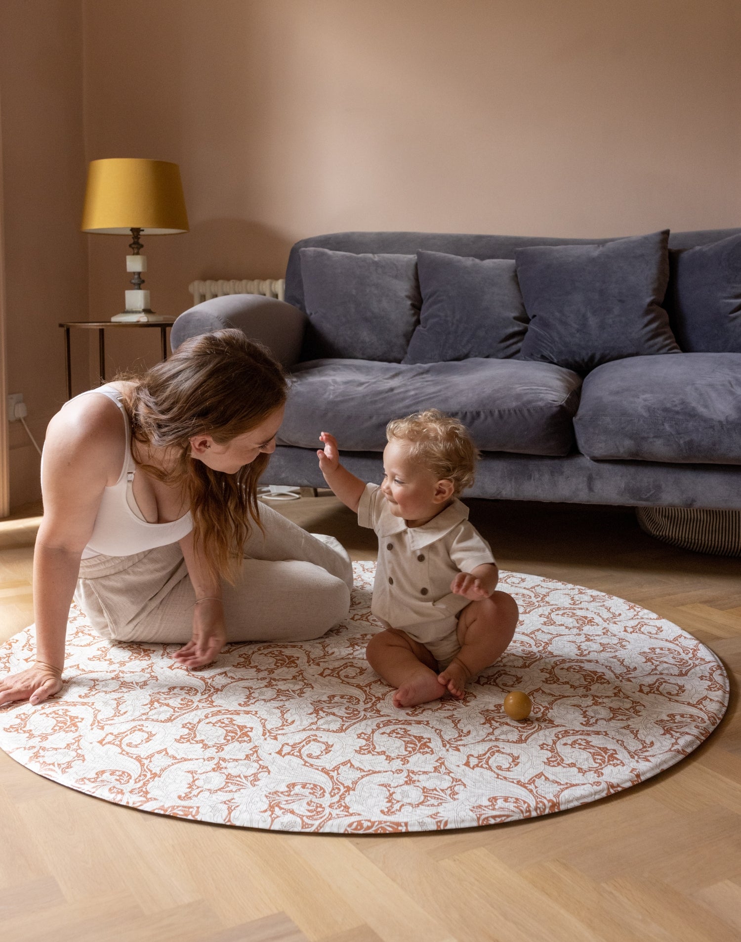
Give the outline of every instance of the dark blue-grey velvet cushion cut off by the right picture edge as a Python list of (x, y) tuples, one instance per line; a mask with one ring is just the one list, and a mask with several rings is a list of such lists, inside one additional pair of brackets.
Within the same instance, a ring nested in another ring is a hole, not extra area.
[(683, 350), (741, 353), (741, 235), (669, 252), (667, 308)]

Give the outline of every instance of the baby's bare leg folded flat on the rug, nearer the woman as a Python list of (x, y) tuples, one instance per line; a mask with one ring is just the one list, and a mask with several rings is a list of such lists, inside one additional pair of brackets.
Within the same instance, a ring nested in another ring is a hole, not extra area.
[(368, 663), (392, 687), (395, 707), (415, 707), (439, 700), (446, 690), (438, 680), (437, 661), (424, 644), (415, 642), (406, 631), (388, 628), (379, 631), (365, 650)]

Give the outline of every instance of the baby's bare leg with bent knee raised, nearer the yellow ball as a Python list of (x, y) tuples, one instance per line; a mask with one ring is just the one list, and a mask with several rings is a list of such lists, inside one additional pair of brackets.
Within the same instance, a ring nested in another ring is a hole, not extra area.
[(454, 697), (463, 696), (467, 681), (480, 674), (507, 649), (517, 627), (517, 602), (505, 592), (472, 602), (460, 612), (460, 650), (438, 679)]

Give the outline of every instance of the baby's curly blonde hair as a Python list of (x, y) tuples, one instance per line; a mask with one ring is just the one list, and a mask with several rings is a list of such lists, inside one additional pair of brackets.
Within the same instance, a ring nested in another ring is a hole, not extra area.
[(411, 461), (426, 467), (438, 480), (452, 480), (454, 495), (474, 483), (481, 454), (457, 418), (438, 409), (394, 418), (386, 426), (386, 438), (408, 443)]

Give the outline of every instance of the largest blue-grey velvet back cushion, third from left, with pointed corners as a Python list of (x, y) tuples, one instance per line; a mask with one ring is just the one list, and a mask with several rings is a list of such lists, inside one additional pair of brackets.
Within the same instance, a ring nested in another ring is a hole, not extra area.
[(520, 356), (588, 373), (624, 357), (679, 351), (661, 306), (669, 230), (604, 245), (515, 252), (530, 317)]

